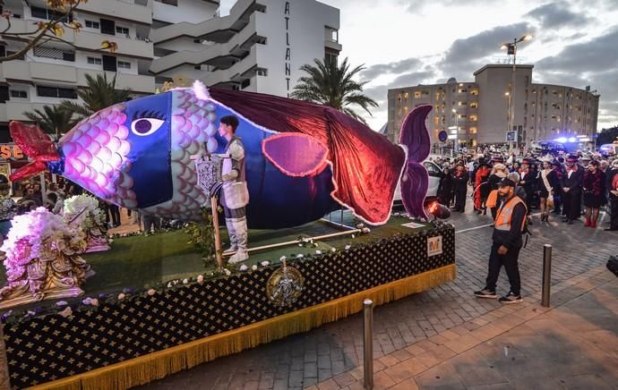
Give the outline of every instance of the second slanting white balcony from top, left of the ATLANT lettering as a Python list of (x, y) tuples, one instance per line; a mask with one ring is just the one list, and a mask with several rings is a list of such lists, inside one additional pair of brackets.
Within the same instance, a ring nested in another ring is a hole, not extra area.
[(260, 31), (258, 31), (258, 26), (263, 25), (263, 22), (260, 22), (263, 19), (264, 15), (262, 13), (252, 13), (249, 18), (249, 24), (227, 43), (203, 47), (202, 50), (199, 51), (179, 51), (171, 55), (157, 58), (150, 64), (150, 72), (159, 74), (182, 64), (211, 64), (221, 66), (214, 62), (218, 59), (220, 60), (222, 57), (229, 57), (230, 61), (234, 61), (236, 57), (245, 55), (249, 52), (256, 41), (262, 37)]

